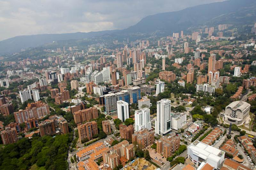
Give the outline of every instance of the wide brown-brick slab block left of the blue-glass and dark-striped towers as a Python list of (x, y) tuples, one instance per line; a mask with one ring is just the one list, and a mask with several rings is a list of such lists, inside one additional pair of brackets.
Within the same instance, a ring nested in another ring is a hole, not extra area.
[(74, 121), (76, 124), (82, 124), (88, 122), (91, 119), (97, 119), (99, 117), (98, 109), (96, 107), (90, 107), (87, 109), (74, 112)]

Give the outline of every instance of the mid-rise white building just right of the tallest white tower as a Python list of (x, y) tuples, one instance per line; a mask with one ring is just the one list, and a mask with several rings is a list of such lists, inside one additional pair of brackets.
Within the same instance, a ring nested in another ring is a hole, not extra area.
[(187, 123), (186, 113), (176, 113), (172, 115), (172, 129), (179, 130)]

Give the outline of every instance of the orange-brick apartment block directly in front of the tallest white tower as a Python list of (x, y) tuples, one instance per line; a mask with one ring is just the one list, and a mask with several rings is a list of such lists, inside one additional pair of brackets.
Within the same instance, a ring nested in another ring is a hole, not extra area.
[(169, 137), (161, 137), (156, 141), (156, 152), (163, 155), (165, 158), (171, 157), (180, 147), (180, 138), (175, 136), (175, 133)]

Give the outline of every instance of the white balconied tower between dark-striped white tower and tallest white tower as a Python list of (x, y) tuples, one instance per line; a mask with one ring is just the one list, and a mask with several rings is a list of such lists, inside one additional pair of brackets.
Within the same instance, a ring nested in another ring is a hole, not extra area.
[(149, 108), (135, 111), (135, 131), (140, 131), (142, 129), (151, 129)]

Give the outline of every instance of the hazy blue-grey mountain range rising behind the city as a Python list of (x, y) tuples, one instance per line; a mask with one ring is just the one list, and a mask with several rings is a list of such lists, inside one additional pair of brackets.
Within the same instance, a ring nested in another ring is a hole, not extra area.
[[(99, 31), (89, 33), (39, 34), (17, 36), (0, 41), (0, 55), (33, 48), (52, 41), (78, 40), (103, 36), (125, 36), (134, 33), (152, 33), (161, 31), (170, 34), (173, 31), (186, 31), (189, 27), (218, 24), (252, 24), (256, 20), (255, 0), (229, 0), (212, 4), (198, 5), (181, 11), (165, 12), (142, 18), (139, 23), (124, 30)], [(125, 38), (124, 37), (124, 38)]]

